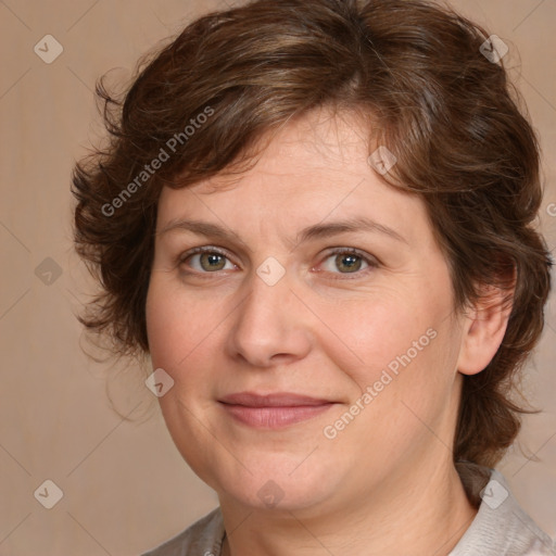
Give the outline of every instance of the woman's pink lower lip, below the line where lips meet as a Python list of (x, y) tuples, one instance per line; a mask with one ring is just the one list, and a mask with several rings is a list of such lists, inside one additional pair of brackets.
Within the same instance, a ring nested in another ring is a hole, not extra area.
[(288, 425), (312, 419), (328, 410), (333, 403), (289, 407), (248, 407), (222, 404), (236, 420), (256, 429), (280, 429)]

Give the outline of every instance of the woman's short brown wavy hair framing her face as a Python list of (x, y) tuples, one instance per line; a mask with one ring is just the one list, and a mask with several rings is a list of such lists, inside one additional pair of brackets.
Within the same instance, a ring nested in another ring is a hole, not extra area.
[(99, 80), (110, 141), (76, 164), (72, 192), (75, 248), (101, 291), (79, 320), (114, 355), (148, 354), (161, 188), (243, 172), (312, 109), (357, 111), (397, 159), (388, 182), (424, 199), (456, 306), (489, 286), (511, 294), (496, 355), (464, 377), (454, 443), (455, 462), (493, 467), (526, 413), (513, 393), (543, 329), (551, 258), (534, 226), (538, 140), (504, 60), (482, 53), (488, 37), (427, 1), (257, 0), (189, 24), (124, 94)]

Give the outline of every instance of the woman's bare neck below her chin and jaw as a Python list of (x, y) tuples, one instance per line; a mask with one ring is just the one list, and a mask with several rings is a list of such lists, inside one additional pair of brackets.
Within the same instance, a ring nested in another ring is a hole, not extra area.
[[(477, 509), (453, 466), (430, 469), (421, 481), (406, 470), (358, 500), (311, 509), (253, 509), (220, 498), (226, 536), (223, 556), (404, 554), (445, 556)], [(421, 484), (424, 486), (416, 486)]]

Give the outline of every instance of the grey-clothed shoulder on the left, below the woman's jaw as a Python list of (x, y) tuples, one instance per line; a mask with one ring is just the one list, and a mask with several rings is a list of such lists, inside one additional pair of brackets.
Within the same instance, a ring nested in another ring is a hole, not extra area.
[(219, 556), (224, 536), (220, 508), (141, 556)]

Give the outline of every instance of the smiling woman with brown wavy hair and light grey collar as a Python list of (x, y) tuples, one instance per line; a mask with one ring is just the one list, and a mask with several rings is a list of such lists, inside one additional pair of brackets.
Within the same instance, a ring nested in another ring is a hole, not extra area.
[(258, 0), (144, 65), (74, 174), (83, 317), (148, 353), (219, 507), (150, 556), (554, 555), (493, 469), (549, 256), (503, 42), (417, 0)]

